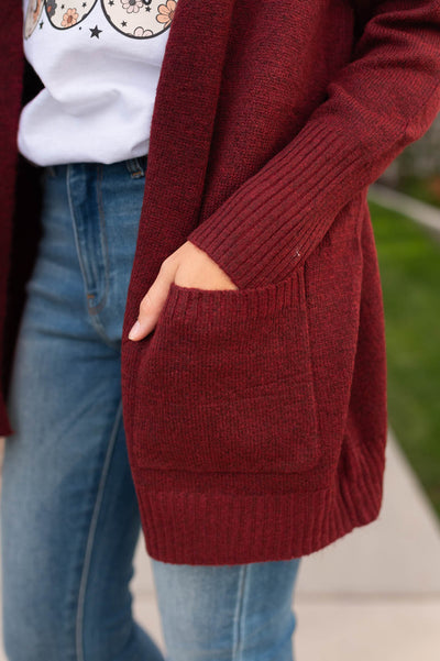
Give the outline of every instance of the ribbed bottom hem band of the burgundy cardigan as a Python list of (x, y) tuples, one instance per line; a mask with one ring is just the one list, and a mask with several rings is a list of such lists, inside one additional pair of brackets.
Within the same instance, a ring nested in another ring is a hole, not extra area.
[[(136, 478), (151, 558), (174, 564), (241, 564), (289, 560), (327, 547), (380, 514), (384, 459), (371, 472), (338, 476), (326, 488), (244, 494), (164, 491), (164, 474)], [(169, 477), (169, 476), (168, 476)], [(229, 476), (232, 477), (233, 476)], [(242, 484), (243, 475), (237, 480)], [(188, 475), (188, 480), (190, 476)], [(212, 475), (216, 484), (216, 475)]]

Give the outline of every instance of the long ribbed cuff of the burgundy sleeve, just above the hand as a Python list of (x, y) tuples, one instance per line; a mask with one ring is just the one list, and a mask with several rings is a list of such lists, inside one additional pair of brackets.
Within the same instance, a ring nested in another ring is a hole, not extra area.
[[(338, 211), (375, 178), (402, 148), (343, 135), (336, 118), (309, 121), (189, 235), (239, 288), (283, 280), (312, 252)], [(371, 159), (375, 159), (372, 172)]]

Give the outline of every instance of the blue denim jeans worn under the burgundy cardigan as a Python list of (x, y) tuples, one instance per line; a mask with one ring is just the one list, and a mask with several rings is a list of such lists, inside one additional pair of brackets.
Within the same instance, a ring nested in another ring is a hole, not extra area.
[[(42, 172), (1, 489), (10, 661), (163, 661), (133, 619), (141, 532), (120, 348), (146, 159)], [(169, 661), (292, 661), (300, 559), (195, 566), (152, 559)]]

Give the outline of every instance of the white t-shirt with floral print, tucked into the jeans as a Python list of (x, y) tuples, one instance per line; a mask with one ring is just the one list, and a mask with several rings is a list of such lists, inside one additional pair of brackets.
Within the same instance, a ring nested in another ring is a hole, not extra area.
[(44, 89), (20, 115), (36, 165), (116, 163), (148, 152), (176, 0), (23, 0), (24, 55)]

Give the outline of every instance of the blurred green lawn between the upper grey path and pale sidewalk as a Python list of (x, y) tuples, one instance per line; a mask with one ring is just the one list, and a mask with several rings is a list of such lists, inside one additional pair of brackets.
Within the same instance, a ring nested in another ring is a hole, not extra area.
[(369, 200), (385, 306), (388, 420), (440, 517), (440, 244)]

